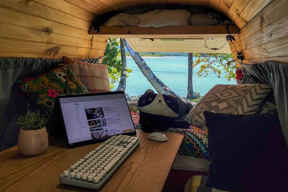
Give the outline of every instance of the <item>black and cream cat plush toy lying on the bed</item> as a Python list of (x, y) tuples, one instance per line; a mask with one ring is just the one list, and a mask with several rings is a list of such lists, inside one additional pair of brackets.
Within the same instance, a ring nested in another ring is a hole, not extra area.
[(189, 128), (181, 119), (192, 109), (190, 102), (184, 102), (174, 95), (155, 94), (148, 89), (138, 100), (139, 123), (147, 133), (165, 131), (171, 128)]

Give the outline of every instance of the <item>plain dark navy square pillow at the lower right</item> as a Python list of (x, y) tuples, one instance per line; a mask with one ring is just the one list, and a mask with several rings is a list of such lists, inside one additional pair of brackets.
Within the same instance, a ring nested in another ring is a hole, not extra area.
[(287, 187), (288, 150), (277, 114), (205, 111), (204, 116), (212, 158), (207, 187), (226, 191)]

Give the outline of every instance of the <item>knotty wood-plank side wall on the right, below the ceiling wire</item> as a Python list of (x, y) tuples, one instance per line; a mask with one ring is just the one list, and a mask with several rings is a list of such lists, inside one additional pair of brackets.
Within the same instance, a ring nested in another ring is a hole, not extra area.
[[(244, 63), (252, 64), (268, 60), (288, 63), (287, 9), (287, 0), (274, 1), (240, 30), (240, 41), (234, 44), (236, 49), (244, 54)], [(247, 16), (249, 17), (251, 16)], [(230, 44), (230, 49), (236, 59), (234, 45)]]

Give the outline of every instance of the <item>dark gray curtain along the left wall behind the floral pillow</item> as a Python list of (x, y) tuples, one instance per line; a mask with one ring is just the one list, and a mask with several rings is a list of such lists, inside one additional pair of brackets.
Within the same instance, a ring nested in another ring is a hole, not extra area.
[[(97, 64), (99, 58), (82, 60)], [(19, 128), (15, 124), (27, 109), (33, 109), (32, 101), (15, 85), (18, 78), (47, 73), (62, 59), (0, 58), (0, 151), (17, 145)]]

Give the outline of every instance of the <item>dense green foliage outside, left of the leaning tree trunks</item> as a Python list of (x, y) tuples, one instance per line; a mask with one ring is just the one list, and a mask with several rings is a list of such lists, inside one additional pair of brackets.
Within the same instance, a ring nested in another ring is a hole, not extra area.
[[(121, 72), (122, 72), (122, 65), (121, 65), (121, 60), (120, 60), (121, 58), (120, 49), (117, 48), (119, 44), (120, 44), (119, 38), (109, 38), (107, 47), (105, 50), (105, 54), (104, 54), (104, 56), (106, 57), (103, 59), (103, 64), (106, 64), (108, 67), (111, 89), (114, 88), (115, 86), (114, 84), (121, 77)], [(132, 69), (127, 68), (127, 74), (131, 72), (132, 72)]]

